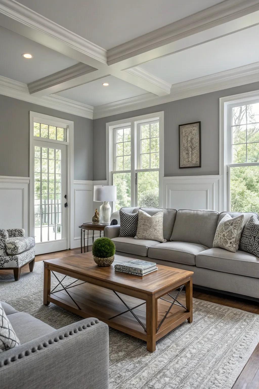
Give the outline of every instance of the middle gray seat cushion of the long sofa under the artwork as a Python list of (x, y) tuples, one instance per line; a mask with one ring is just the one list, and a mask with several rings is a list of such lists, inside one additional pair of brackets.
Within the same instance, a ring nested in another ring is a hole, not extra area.
[(189, 242), (165, 242), (149, 247), (148, 257), (195, 266), (195, 255), (207, 246)]

